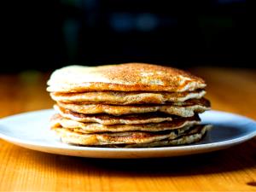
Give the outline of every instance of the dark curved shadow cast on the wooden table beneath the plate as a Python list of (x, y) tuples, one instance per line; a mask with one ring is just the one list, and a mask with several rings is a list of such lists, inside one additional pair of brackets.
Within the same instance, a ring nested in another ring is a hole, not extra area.
[[(35, 163), (48, 163), (55, 170), (75, 174), (108, 174), (119, 177), (150, 176), (169, 177), (202, 175), (218, 172), (233, 172), (256, 165), (256, 151), (253, 141), (239, 146), (212, 152), (182, 157), (158, 159), (90, 159), (56, 154), (31, 155)], [(37, 160), (39, 158), (39, 160)], [(44, 159), (44, 160), (42, 160)]]

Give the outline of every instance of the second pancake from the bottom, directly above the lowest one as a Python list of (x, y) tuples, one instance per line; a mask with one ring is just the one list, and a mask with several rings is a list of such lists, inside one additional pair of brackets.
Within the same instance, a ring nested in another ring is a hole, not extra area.
[(198, 115), (190, 118), (177, 118), (170, 122), (149, 123), (149, 124), (117, 124), (117, 125), (102, 125), (98, 123), (81, 123), (72, 119), (61, 117), (60, 114), (55, 114), (51, 119), (51, 127), (63, 127), (73, 129), (74, 131), (83, 133), (96, 132), (122, 132), (122, 131), (167, 131), (189, 127), (191, 125), (199, 124), (200, 118)]

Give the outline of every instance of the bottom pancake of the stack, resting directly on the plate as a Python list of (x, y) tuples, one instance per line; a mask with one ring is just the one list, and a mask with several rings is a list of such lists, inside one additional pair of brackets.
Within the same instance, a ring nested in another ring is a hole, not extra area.
[[(61, 137), (63, 143), (102, 147), (117, 147), (118, 145), (125, 144), (125, 146), (119, 147), (137, 148), (197, 142), (203, 137), (208, 128), (209, 126), (207, 125), (194, 125), (192, 127), (183, 127), (172, 131), (124, 131), (96, 134), (80, 133), (65, 128), (54, 128), (54, 130)], [(191, 137), (193, 135), (194, 137)], [(177, 140), (174, 141), (175, 139)]]

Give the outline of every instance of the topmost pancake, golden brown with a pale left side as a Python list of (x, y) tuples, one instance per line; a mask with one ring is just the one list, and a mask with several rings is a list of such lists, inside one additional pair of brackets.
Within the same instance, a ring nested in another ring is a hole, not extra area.
[(182, 92), (203, 89), (203, 79), (172, 67), (126, 63), (99, 67), (69, 66), (52, 73), (48, 91), (96, 90)]

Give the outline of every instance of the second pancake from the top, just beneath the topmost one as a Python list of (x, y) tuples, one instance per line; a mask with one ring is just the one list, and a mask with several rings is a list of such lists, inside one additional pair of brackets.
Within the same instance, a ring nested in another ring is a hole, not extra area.
[(124, 92), (97, 91), (82, 93), (53, 92), (50, 96), (56, 102), (88, 102), (102, 104), (165, 104), (166, 102), (184, 102), (189, 99), (200, 99), (206, 94), (205, 90), (191, 92)]

